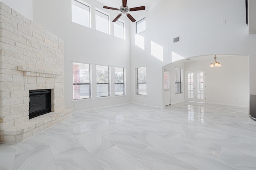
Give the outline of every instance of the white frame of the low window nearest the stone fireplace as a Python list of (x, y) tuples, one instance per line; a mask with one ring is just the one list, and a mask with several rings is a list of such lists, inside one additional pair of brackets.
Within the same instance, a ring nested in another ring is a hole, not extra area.
[[(74, 83), (74, 64), (83, 64), (83, 65), (89, 65), (89, 83)], [(79, 62), (72, 62), (72, 75), (73, 75), (73, 100), (84, 100), (84, 99), (92, 99), (92, 64), (89, 63), (79, 63)], [(74, 85), (89, 85), (89, 98), (79, 98), (74, 99)]]

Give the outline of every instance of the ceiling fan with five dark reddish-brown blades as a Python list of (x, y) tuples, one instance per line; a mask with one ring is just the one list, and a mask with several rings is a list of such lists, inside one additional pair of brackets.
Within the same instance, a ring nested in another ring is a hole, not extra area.
[(126, 14), (126, 16), (132, 22), (135, 22), (136, 20), (131, 16), (131, 14), (128, 13), (128, 11), (140, 11), (140, 10), (145, 10), (146, 9), (145, 6), (139, 6), (139, 7), (135, 7), (135, 8), (128, 8), (126, 3), (127, 3), (127, 0), (123, 0), (123, 5), (120, 6), (120, 9), (112, 8), (112, 7), (108, 7), (108, 6), (103, 6), (103, 8), (106, 8), (106, 9), (117, 10), (117, 11), (122, 12), (122, 13), (118, 14), (118, 16), (116, 16), (116, 18), (112, 22), (116, 22), (118, 20), (118, 18), (120, 18), (120, 16), (122, 16), (122, 14)]

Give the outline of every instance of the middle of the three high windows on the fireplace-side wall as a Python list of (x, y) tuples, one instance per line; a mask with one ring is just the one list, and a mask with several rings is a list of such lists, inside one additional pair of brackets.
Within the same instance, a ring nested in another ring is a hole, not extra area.
[(96, 30), (109, 34), (109, 17), (108, 15), (96, 10), (95, 11)]

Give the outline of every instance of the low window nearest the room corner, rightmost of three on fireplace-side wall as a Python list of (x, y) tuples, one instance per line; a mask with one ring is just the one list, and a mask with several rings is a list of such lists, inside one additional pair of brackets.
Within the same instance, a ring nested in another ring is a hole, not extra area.
[(115, 95), (116, 96), (125, 94), (124, 71), (125, 71), (125, 68), (115, 67)]

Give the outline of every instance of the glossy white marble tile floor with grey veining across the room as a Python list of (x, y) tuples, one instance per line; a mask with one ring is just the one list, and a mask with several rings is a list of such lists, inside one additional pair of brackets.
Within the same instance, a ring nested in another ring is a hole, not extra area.
[(182, 102), (78, 111), (18, 144), (1, 170), (256, 170), (248, 108)]

